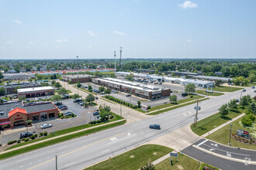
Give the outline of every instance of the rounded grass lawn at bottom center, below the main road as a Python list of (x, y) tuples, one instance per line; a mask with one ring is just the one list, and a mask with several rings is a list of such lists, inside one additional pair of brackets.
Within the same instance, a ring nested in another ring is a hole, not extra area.
[(161, 145), (142, 145), (85, 169), (139, 169), (149, 161), (154, 162), (171, 151), (173, 149)]

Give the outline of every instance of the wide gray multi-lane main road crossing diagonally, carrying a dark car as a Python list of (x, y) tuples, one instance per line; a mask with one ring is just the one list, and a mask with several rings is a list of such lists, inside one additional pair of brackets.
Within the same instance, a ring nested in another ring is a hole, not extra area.
[[(249, 88), (243, 95), (247, 93), (254, 96), (253, 90)], [(229, 102), (232, 98), (239, 97), (240, 90), (202, 101), (199, 119), (216, 113), (221, 105)], [(194, 113), (194, 104), (171, 110), (131, 124), (5, 159), (0, 162), (0, 169), (54, 169), (56, 154), (58, 155), (57, 165), (59, 169), (85, 168), (88, 165), (118, 155), (130, 148), (191, 124)], [(149, 129), (149, 124), (161, 124), (161, 130)], [(236, 168), (234, 166), (234, 168), (228, 169)]]

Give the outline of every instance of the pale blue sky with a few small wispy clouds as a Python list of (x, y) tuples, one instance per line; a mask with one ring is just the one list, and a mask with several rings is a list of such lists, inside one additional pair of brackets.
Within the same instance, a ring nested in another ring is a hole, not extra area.
[[(256, 58), (256, 1), (1, 0), (0, 59)], [(119, 56), (119, 55), (117, 55)]]

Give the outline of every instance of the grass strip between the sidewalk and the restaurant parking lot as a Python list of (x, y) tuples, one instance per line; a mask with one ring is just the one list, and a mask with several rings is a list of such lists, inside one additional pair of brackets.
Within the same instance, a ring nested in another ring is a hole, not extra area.
[(102, 122), (102, 123), (99, 123), (99, 124), (82, 124), (80, 126), (76, 126), (76, 127), (73, 127), (73, 128), (67, 128), (67, 129), (63, 129), (63, 130), (60, 130), (60, 131), (54, 131), (54, 135), (50, 133), (46, 137), (37, 138), (37, 139), (34, 139), (34, 140), (30, 140), (30, 141), (22, 142), (22, 143), (19, 143), (19, 144), (16, 144), (16, 145), (12, 145), (11, 147), (6, 148), (5, 150), (9, 150), (9, 149), (12, 149), (12, 148), (17, 148), (17, 147), (20, 147), (20, 146), (23, 146), (23, 145), (28, 145), (28, 144), (34, 143), (36, 141), (43, 141), (43, 140), (46, 140), (48, 138), (53, 138), (53, 137), (60, 136), (60, 135), (63, 135), (63, 134), (68, 134), (68, 133), (71, 133), (73, 131), (79, 131), (81, 129), (86, 130), (86, 128), (92, 128), (92, 127), (98, 126), (100, 124), (106, 124), (106, 123), (109, 123), (109, 122), (112, 122), (112, 121), (118, 121), (118, 120), (123, 119), (123, 117), (120, 117), (117, 114), (112, 113), (112, 115), (114, 115), (114, 117), (111, 120), (106, 121), (106, 122)]

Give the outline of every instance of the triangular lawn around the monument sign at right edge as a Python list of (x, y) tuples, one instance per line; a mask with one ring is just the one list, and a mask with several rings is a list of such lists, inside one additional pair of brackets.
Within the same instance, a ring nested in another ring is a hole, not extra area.
[[(232, 133), (236, 134), (238, 129), (243, 129), (243, 130), (249, 131), (249, 133), (251, 133), (252, 131), (250, 129), (243, 128), (239, 124), (239, 121), (241, 121), (241, 120), (242, 120), (242, 117), (240, 117), (240, 119), (237, 119), (237, 121), (232, 122), (232, 124), (233, 124)], [(210, 140), (219, 142), (220, 144), (223, 144), (223, 145), (228, 145), (228, 142), (230, 139), (230, 124), (221, 128), (219, 131), (216, 131), (213, 134), (210, 134), (206, 138), (209, 138)], [(233, 146), (233, 147), (256, 149), (256, 145), (240, 143), (239, 141), (236, 141), (232, 137), (231, 137), (230, 142), (231, 142), (231, 146)]]

